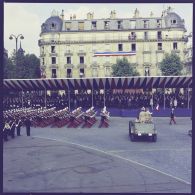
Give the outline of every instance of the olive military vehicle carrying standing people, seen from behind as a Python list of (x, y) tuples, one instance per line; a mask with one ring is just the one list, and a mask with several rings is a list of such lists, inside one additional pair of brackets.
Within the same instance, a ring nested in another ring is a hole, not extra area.
[(156, 142), (157, 131), (154, 123), (129, 121), (129, 136), (131, 141), (135, 141), (138, 137), (148, 137), (151, 141)]

